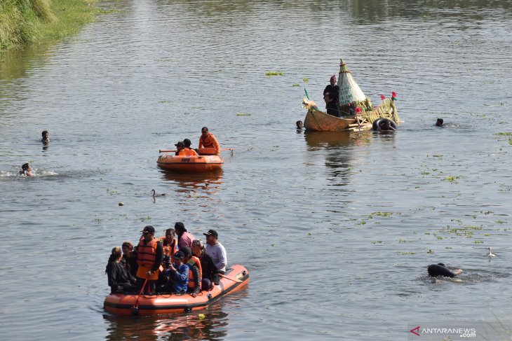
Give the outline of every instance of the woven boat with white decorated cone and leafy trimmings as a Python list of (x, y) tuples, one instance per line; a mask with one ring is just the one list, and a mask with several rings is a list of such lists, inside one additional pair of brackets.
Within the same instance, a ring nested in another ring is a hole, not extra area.
[(342, 118), (319, 110), (316, 103), (307, 97), (302, 100), (304, 108), (308, 109), (306, 118), (304, 118), (304, 128), (306, 130), (318, 132), (369, 130), (372, 129), (372, 123), (378, 118), (388, 118), (397, 124), (400, 123), (394, 102), (396, 99), (394, 92), (391, 99), (385, 99), (381, 95), (382, 103), (379, 106), (373, 106), (370, 99), (364, 95), (359, 85), (357, 85), (351, 71), (346, 68), (342, 59), (340, 59), (339, 67), (339, 109)]

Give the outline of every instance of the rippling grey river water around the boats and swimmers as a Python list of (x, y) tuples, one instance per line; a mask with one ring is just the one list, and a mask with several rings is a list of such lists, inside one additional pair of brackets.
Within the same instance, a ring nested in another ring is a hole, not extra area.
[[(483, 321), (511, 335), (508, 1), (99, 6), (119, 11), (0, 57), (2, 339), (405, 340)], [(321, 104), (340, 57), (374, 104), (398, 93), (396, 133), (295, 130), (304, 88)], [(159, 149), (203, 126), (234, 148), (223, 172), (162, 173)], [(249, 287), (202, 320), (106, 314), (112, 247), (175, 221), (217, 230)], [(428, 279), (440, 262), (460, 281)]]

